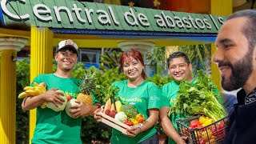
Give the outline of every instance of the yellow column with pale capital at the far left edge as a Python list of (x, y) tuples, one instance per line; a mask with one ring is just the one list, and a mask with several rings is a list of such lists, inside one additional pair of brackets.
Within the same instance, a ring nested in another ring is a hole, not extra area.
[(16, 129), (16, 56), (26, 38), (0, 38), (0, 143), (14, 144)]

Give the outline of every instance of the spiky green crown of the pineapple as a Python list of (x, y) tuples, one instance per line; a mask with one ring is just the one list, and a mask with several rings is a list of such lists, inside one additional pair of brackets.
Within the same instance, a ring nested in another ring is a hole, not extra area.
[(82, 78), (82, 82), (79, 85), (80, 92), (83, 94), (90, 94), (95, 89), (95, 78), (96, 73), (91, 73), (89, 70), (88, 72), (85, 72), (85, 76)]

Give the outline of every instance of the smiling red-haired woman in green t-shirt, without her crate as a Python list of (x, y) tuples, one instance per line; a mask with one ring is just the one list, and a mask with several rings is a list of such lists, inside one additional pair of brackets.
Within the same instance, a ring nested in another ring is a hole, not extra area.
[[(112, 86), (118, 87), (118, 97), (122, 104), (133, 105), (138, 110), (138, 114), (145, 116), (145, 122), (140, 127), (131, 126), (126, 129), (126, 133), (113, 129), (110, 142), (158, 144), (154, 125), (158, 122), (161, 91), (154, 82), (146, 81), (145, 65), (138, 50), (130, 49), (123, 52), (120, 64), (128, 79), (114, 82)], [(99, 118), (96, 113), (95, 118)]]

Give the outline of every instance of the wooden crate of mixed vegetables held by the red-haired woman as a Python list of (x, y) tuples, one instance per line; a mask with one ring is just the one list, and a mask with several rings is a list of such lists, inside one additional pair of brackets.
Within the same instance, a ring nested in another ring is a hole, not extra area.
[(119, 97), (114, 97), (117, 90), (112, 86), (108, 88), (100, 87), (101, 92), (108, 98), (102, 112), (102, 122), (112, 128), (126, 133), (130, 126), (142, 126), (145, 121), (143, 114), (138, 114), (137, 109), (131, 104), (122, 104)]

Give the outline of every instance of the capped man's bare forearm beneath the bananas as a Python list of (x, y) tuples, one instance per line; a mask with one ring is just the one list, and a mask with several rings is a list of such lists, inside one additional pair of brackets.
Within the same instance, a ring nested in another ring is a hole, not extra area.
[(24, 100), (22, 102), (22, 110), (32, 110), (32, 109), (42, 105), (43, 102), (45, 102), (45, 100), (43, 98), (43, 94), (40, 94), (40, 95), (34, 96), (34, 97), (24, 98)]

